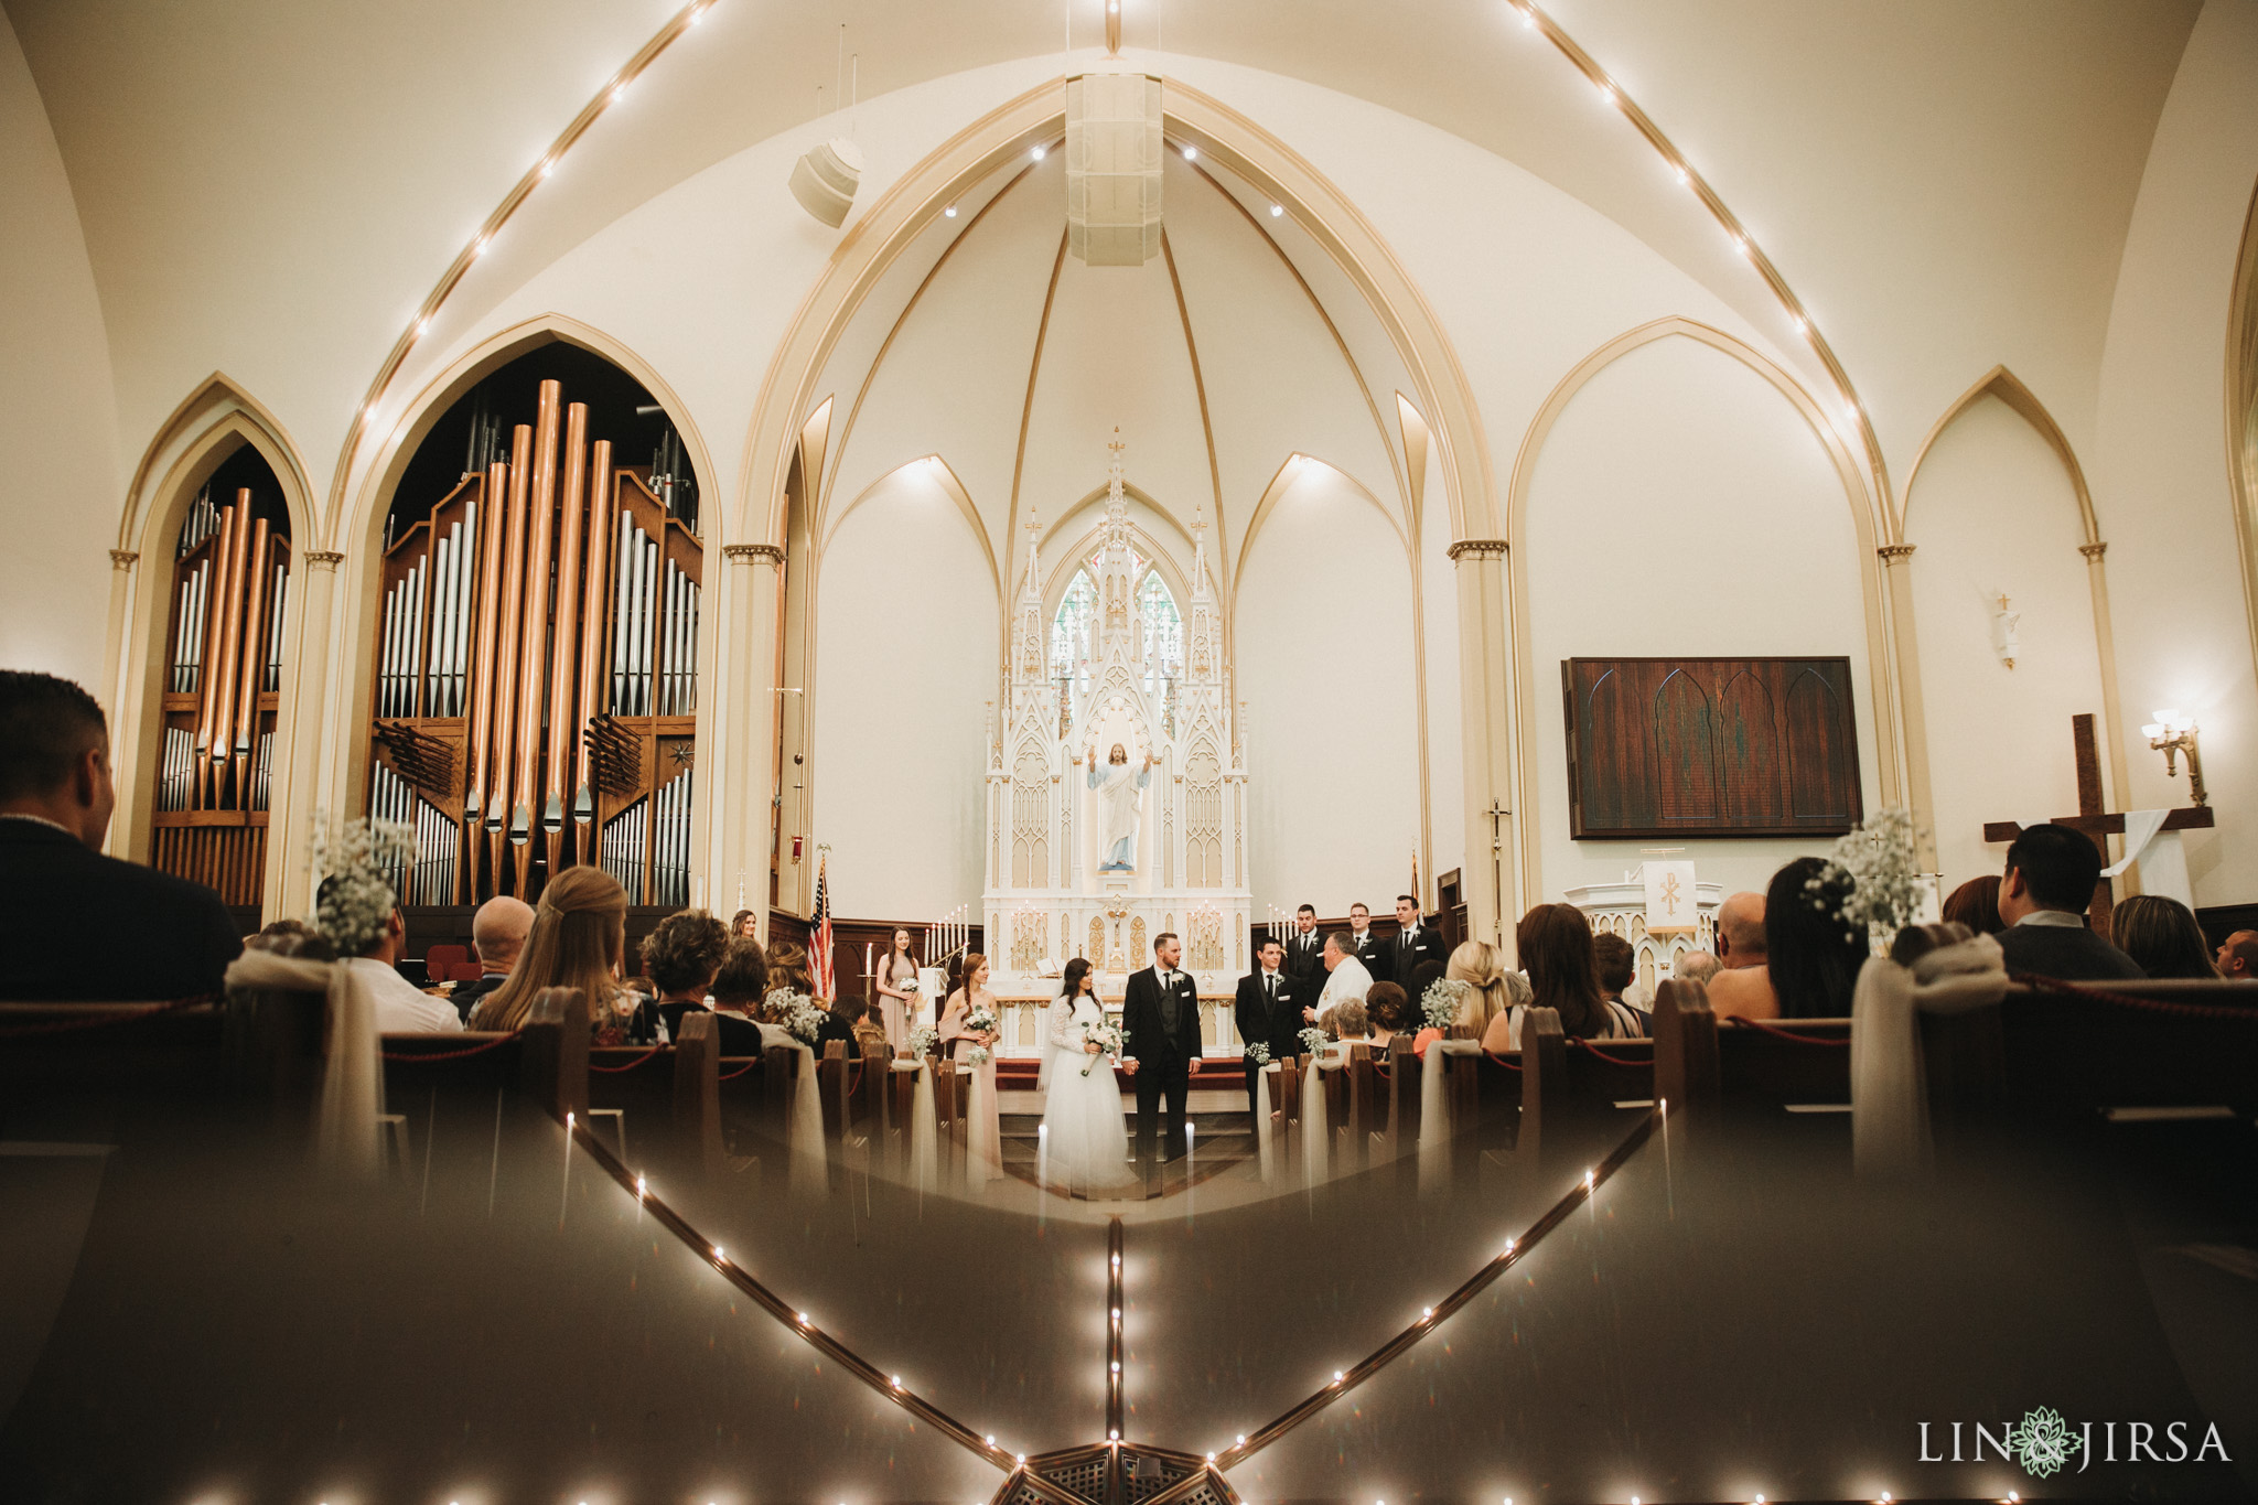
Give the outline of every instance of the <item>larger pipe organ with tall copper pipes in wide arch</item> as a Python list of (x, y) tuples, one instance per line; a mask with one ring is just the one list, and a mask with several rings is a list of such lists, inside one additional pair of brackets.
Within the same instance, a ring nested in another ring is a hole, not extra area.
[(395, 891), (533, 900), (587, 862), (686, 905), (704, 551), (677, 487), (589, 442), (558, 381), (508, 458), (476, 438), (384, 557), (368, 801), (415, 830)]

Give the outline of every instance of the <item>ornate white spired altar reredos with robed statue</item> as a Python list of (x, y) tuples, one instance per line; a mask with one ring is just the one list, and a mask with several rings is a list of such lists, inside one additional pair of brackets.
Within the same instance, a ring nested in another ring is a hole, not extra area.
[(1111, 449), (1097, 546), (1070, 571), (1073, 609), (1045, 602), (1027, 521), (1005, 699), (989, 722), (982, 909), (998, 997), (1052, 995), (1073, 957), (1095, 961), (1100, 991), (1118, 997), (1165, 930), (1183, 939), (1201, 995), (1228, 993), (1246, 970), (1246, 760), (1206, 526), (1192, 523), (1179, 611), (1138, 551), (1120, 440)]

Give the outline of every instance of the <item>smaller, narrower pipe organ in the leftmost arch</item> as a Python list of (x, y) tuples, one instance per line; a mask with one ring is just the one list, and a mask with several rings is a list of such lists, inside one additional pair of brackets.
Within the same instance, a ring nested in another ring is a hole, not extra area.
[(149, 864), (257, 905), (282, 699), (289, 537), (251, 492), (187, 508), (172, 569)]

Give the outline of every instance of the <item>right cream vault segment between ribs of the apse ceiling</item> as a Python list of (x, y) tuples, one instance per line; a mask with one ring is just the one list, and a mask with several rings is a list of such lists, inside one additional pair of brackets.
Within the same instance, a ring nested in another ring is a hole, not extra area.
[(1393, 465), (1357, 370), (1307, 287), (1226, 194), (1179, 171), (1192, 192), (1170, 199), (1170, 241), (1199, 336), (1224, 492), (1217, 564), (1231, 578), (1253, 508), (1285, 456), (1323, 447), (1341, 469), (1384, 490)]

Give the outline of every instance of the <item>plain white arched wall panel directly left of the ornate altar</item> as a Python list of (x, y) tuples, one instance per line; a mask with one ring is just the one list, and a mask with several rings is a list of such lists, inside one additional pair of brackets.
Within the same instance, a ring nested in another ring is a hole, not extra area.
[[(980, 539), (917, 467), (881, 483), (824, 548), (806, 778), (840, 914), (978, 900), (996, 614)], [(799, 776), (786, 763), (786, 787)]]

